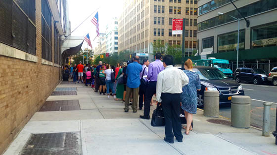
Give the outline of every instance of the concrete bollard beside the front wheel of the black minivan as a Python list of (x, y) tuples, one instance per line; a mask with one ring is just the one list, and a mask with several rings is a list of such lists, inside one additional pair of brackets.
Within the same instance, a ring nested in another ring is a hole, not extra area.
[(218, 91), (204, 92), (204, 116), (208, 116), (208, 117), (219, 116), (219, 92)]

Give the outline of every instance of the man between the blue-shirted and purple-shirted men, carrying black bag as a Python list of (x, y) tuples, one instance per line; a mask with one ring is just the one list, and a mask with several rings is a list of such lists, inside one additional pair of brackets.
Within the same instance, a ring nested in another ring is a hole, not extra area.
[(147, 73), (148, 73), (148, 65), (149, 61), (147, 59), (144, 59), (142, 61), (142, 72), (140, 72), (140, 86), (139, 86), (139, 110), (142, 109), (143, 106), (143, 98), (144, 94), (148, 85), (148, 80), (147, 80)]

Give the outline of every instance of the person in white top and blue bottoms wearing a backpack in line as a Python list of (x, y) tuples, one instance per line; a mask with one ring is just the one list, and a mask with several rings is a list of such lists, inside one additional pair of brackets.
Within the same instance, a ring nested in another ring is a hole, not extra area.
[[(106, 87), (107, 87), (107, 95), (108, 95), (108, 98), (110, 98), (110, 90), (112, 91), (112, 95), (114, 98), (116, 98), (116, 95), (115, 95), (115, 92), (114, 92), (114, 89), (113, 89), (113, 83), (114, 83), (114, 71), (113, 69), (111, 68), (111, 66), (109, 64), (106, 64), (106, 70), (105, 70), (105, 75), (106, 75)], [(112, 78), (113, 77), (113, 78)]]

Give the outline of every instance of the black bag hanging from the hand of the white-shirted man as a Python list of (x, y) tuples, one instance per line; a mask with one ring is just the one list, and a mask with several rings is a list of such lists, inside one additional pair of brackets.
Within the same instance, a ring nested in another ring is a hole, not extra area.
[(164, 126), (165, 125), (165, 118), (164, 112), (162, 110), (161, 104), (157, 105), (157, 108), (154, 110), (151, 119), (152, 126)]

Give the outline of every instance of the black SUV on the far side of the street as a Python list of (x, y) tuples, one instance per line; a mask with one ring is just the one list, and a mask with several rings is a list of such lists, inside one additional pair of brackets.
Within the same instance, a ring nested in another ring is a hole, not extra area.
[(263, 69), (236, 68), (233, 79), (240, 83), (241, 81), (253, 82), (255, 85), (266, 82), (267, 73)]

